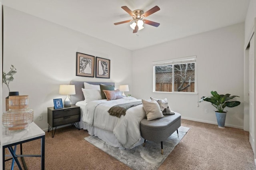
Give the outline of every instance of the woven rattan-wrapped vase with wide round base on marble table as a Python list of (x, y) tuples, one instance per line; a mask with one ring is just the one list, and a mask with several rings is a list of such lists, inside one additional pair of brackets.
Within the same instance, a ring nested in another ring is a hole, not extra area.
[(28, 109), (28, 96), (9, 96), (9, 110), (3, 113), (2, 123), (9, 130), (23, 130), (33, 122), (34, 111)]

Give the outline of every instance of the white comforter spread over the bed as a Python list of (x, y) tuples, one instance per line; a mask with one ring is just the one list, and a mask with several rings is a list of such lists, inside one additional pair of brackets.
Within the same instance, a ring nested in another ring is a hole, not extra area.
[(140, 101), (134, 97), (125, 97), (112, 101), (97, 100), (87, 103), (82, 121), (87, 125), (113, 132), (124, 148), (133, 148), (140, 141), (140, 121), (146, 117), (142, 105), (131, 107), (125, 116), (110, 116), (108, 110), (114, 105)]

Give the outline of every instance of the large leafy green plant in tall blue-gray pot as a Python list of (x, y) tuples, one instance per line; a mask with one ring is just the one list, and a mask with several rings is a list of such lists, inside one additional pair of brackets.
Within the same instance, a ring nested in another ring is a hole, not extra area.
[(234, 99), (239, 96), (230, 96), (230, 94), (219, 95), (216, 91), (211, 91), (212, 96), (210, 97), (202, 97), (199, 102), (208, 101), (212, 103), (212, 105), (217, 109), (215, 111), (216, 119), (219, 128), (225, 128), (226, 121), (226, 113), (224, 111), (225, 107), (236, 107), (240, 105), (240, 101), (228, 101), (230, 99)]

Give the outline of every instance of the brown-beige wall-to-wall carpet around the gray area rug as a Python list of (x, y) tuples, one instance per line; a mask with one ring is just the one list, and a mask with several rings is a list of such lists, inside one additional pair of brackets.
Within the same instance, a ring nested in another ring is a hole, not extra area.
[[(182, 126), (190, 130), (159, 170), (256, 170), (248, 132), (187, 120), (182, 120)], [(46, 170), (130, 169), (84, 140), (89, 136), (86, 130), (65, 127), (57, 129), (54, 138), (51, 134), (46, 132)], [(40, 154), (40, 140), (23, 144), (23, 153)], [(40, 169), (40, 158), (25, 160), (28, 169)], [(6, 162), (6, 170), (10, 164)]]

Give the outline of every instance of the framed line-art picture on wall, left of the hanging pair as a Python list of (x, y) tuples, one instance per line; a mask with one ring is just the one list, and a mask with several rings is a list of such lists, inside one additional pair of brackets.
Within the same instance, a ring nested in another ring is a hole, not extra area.
[(94, 61), (94, 56), (76, 52), (76, 75), (94, 77)]

